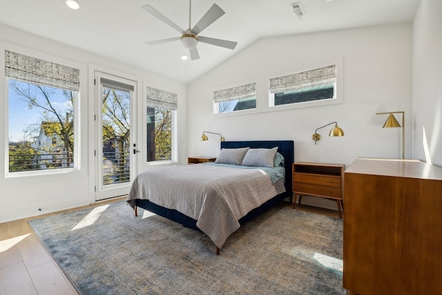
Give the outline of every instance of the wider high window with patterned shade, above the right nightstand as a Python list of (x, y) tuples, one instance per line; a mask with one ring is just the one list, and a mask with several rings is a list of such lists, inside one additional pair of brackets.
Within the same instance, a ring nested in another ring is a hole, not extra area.
[(336, 65), (270, 79), (271, 106), (336, 98)]

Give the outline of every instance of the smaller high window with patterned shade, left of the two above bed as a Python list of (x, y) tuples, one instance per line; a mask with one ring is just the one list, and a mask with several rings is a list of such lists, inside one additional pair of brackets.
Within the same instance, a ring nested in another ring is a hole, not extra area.
[(213, 92), (217, 113), (231, 113), (256, 108), (256, 83)]

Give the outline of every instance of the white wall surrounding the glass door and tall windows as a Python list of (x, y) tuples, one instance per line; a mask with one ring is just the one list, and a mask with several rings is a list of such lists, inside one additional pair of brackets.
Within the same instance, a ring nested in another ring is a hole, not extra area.
[[(164, 86), (167, 91), (174, 91), (178, 95), (178, 160), (186, 162), (186, 104), (187, 86), (171, 79), (148, 73), (140, 68), (127, 66), (119, 62), (99, 57), (78, 50), (55, 41), (44, 39), (36, 35), (28, 34), (21, 30), (16, 30), (0, 24), (0, 64), (3, 66), (4, 50), (19, 50), (25, 54), (36, 53), (36, 57), (50, 57), (53, 59), (68, 60), (80, 69), (81, 75), (81, 170), (70, 173), (57, 173), (50, 175), (33, 175), (6, 178), (5, 167), (6, 153), (8, 151), (7, 122), (4, 115), (0, 116), (0, 222), (37, 216), (42, 213), (49, 213), (61, 209), (79, 207), (84, 204), (95, 202), (93, 193), (95, 166), (94, 157), (94, 126), (93, 126), (93, 73), (94, 68), (106, 70), (110, 74), (120, 75), (129, 79), (135, 79), (138, 86), (138, 105), (142, 105), (142, 84), (152, 84), (157, 87)], [(70, 64), (67, 64), (70, 66)], [(0, 111), (6, 111), (6, 79), (4, 70), (0, 70)], [(140, 112), (142, 113), (142, 112)], [(145, 114), (145, 113), (144, 113)], [(141, 118), (140, 118), (141, 119)], [(141, 127), (141, 126), (140, 126)], [(140, 132), (139, 132), (140, 133)], [(141, 134), (140, 134), (141, 135)], [(144, 144), (138, 142), (139, 149)], [(145, 149), (142, 149), (145, 153)], [(143, 163), (139, 164), (139, 169), (146, 169)], [(38, 209), (41, 209), (39, 211)]]

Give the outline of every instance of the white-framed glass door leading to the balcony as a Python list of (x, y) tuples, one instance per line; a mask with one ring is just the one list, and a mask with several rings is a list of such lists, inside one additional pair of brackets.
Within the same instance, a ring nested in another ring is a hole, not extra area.
[(133, 132), (136, 82), (96, 73), (95, 87), (95, 200), (104, 200), (128, 193), (136, 171), (137, 146)]

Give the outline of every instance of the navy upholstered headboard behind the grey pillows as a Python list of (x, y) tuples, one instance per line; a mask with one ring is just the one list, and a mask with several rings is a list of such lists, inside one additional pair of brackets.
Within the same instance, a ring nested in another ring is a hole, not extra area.
[(291, 164), (295, 160), (293, 140), (253, 140), (243, 142), (221, 142), (221, 149), (236, 149), (249, 146), (251, 149), (265, 148), (272, 149), (278, 146), (278, 153), (284, 156), (285, 166), (285, 189), (287, 195), (291, 196)]

